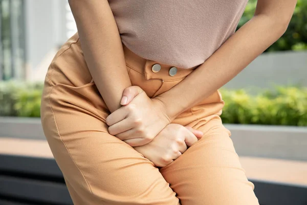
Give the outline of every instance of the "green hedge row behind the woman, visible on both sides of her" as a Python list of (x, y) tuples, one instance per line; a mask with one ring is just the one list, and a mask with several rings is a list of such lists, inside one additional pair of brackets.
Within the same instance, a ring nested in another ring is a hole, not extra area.
[[(0, 115), (39, 117), (42, 84), (0, 82)], [(307, 88), (276, 87), (251, 95), (221, 89), (224, 123), (307, 126)]]

